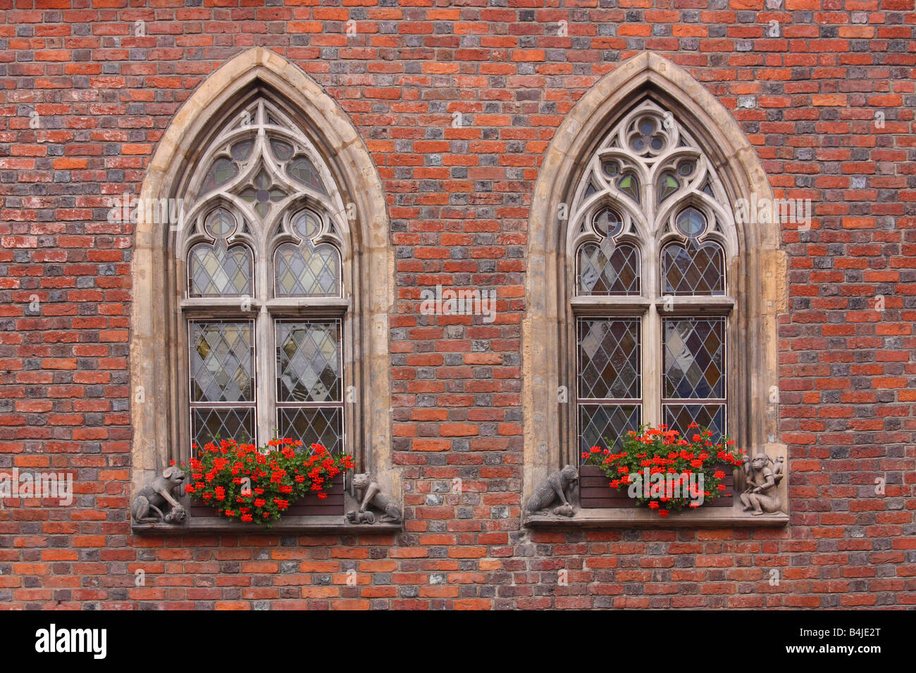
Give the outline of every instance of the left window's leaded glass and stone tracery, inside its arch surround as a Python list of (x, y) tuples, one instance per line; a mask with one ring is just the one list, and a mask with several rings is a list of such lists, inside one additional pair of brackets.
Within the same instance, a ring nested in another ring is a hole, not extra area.
[(309, 137), (253, 96), (181, 193), (191, 442), (277, 433), (343, 449), (348, 223)]

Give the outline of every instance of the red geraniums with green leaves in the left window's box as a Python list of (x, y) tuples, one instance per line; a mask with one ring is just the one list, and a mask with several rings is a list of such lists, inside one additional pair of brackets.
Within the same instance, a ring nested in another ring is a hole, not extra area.
[(312, 444), (307, 454), (301, 441), (289, 438), (270, 440), (261, 448), (235, 440), (191, 446), (195, 455), (181, 465), (191, 475), (185, 492), (216, 505), (221, 516), (267, 527), (306, 494), (326, 498), (334, 477), (355, 467), (345, 453)]

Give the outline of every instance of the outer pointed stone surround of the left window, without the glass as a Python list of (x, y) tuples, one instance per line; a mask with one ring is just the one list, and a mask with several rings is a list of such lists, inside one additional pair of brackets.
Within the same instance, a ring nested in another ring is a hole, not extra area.
[[(181, 105), (149, 163), (140, 203), (178, 199), (184, 190), (198, 190), (200, 185), (188, 187), (188, 171), (200, 160), (214, 120), (239, 110), (253, 92), (268, 92), (308, 135), (330, 174), (327, 179), (337, 188), (338, 210), (344, 210), (337, 212), (346, 237), (343, 261), (349, 269), (344, 301), (350, 308), (347, 320), (352, 320), (353, 334), (352, 341), (344, 344), (353, 363), (349, 383), (355, 411), (350, 441), (357, 467), (371, 466), (376, 479), (389, 481), (384, 485), (398, 494), (399, 484), (393, 483), (390, 470), (387, 335), (394, 262), (387, 205), (376, 167), (344, 110), (298, 66), (267, 49), (248, 49), (202, 81)], [(320, 201), (320, 192), (316, 188), (311, 198)], [(177, 417), (180, 386), (186, 381), (175, 357), (181, 341), (176, 316), (183, 294), (172, 279), (185, 273), (186, 259), (176, 246), (175, 229), (154, 218), (141, 219), (135, 229), (130, 342), (135, 487), (169, 460), (177, 460), (177, 441), (183, 437)]]

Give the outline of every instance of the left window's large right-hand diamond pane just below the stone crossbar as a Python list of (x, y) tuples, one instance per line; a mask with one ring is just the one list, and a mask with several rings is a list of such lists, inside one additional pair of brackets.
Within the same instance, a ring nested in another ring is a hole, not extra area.
[(278, 402), (340, 402), (340, 323), (277, 323)]

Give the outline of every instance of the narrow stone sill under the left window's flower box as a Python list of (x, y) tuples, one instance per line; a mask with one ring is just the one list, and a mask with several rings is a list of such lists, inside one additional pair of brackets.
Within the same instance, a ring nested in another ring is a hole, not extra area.
[(401, 524), (351, 524), (344, 516), (281, 516), (271, 527), (241, 524), (218, 516), (194, 516), (181, 526), (131, 524), (135, 535), (322, 535), (329, 533), (399, 533)]

